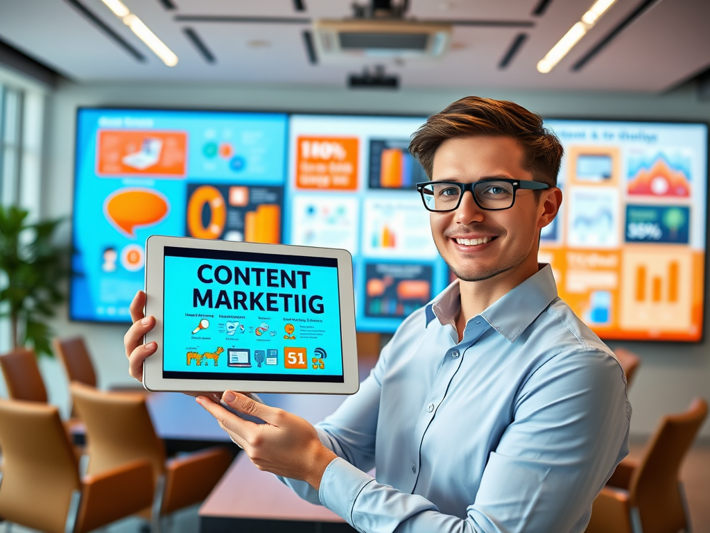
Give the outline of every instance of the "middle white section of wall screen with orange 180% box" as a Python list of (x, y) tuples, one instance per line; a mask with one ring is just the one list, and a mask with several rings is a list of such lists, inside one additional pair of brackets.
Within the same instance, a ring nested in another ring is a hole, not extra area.
[(361, 331), (394, 331), (448, 283), (415, 190), (427, 175), (408, 151), (423, 122), (290, 117), (286, 240), (352, 254)]

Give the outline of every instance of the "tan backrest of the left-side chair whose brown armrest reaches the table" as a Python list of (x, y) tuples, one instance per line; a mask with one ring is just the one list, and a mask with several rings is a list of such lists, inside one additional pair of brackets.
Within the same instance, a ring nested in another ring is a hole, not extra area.
[(136, 392), (102, 392), (74, 382), (74, 407), (86, 425), (89, 447), (87, 473), (147, 459), (158, 480), (165, 472), (165, 445), (153, 429), (146, 397)]

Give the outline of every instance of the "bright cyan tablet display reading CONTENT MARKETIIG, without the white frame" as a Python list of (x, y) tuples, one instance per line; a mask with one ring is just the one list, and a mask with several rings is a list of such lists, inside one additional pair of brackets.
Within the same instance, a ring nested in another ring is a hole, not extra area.
[(164, 248), (163, 377), (343, 382), (337, 259)]

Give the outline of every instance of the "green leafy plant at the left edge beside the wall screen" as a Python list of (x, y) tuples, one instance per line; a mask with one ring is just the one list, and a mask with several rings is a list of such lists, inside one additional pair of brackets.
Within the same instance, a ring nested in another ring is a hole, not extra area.
[(58, 220), (27, 222), (28, 212), (0, 205), (0, 316), (9, 317), (12, 347), (52, 356), (46, 321), (65, 300), (67, 249), (57, 246)]

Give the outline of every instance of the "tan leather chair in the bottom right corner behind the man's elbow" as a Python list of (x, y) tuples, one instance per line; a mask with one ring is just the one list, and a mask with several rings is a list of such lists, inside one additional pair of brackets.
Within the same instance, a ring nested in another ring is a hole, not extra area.
[(641, 461), (625, 459), (594, 500), (586, 533), (689, 531), (680, 465), (708, 414), (694, 399), (682, 414), (664, 416)]

